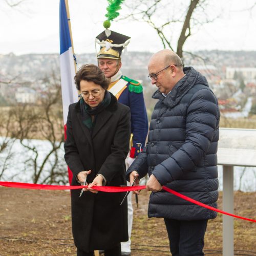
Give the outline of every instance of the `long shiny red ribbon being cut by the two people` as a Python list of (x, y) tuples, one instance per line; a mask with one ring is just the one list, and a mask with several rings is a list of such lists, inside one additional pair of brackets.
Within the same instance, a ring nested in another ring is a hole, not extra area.
[[(8, 182), (8, 181), (0, 181), (1, 186), (5, 187), (16, 187), (16, 188), (29, 188), (29, 189), (50, 189), (50, 190), (64, 190), (64, 189), (81, 189), (87, 186), (59, 186), (59, 185), (41, 185), (41, 184), (33, 184), (33, 183), (20, 183), (20, 182)], [(92, 187), (95, 190), (102, 191), (102, 192), (109, 192), (109, 193), (116, 193), (116, 192), (126, 192), (126, 191), (133, 191), (133, 190), (142, 190), (145, 189), (146, 186), (124, 186), (124, 187), (111, 187), (111, 186), (93, 186)], [(177, 197), (180, 197), (188, 202), (197, 204), (199, 206), (205, 207), (210, 210), (218, 211), (221, 214), (225, 214), (234, 218), (256, 222), (256, 220), (244, 218), (238, 215), (230, 214), (229, 212), (211, 207), (207, 204), (200, 203), (192, 198), (186, 197), (173, 189), (170, 189), (166, 186), (163, 186), (163, 189)]]

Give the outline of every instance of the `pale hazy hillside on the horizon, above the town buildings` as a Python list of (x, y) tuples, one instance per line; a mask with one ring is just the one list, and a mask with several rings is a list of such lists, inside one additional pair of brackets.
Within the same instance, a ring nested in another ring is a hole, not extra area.
[[(222, 67), (256, 67), (256, 51), (199, 51), (194, 55), (185, 53), (185, 66), (214, 65)], [(122, 55), (122, 69), (131, 70), (136, 77), (136, 71), (146, 69), (147, 62), (152, 56), (150, 52), (127, 52)], [(77, 54), (77, 65), (96, 63), (95, 53)], [(33, 77), (40, 79), (55, 71), (59, 73), (58, 54), (26, 54), (14, 55), (13, 53), (0, 54), (0, 79), (1, 77)]]

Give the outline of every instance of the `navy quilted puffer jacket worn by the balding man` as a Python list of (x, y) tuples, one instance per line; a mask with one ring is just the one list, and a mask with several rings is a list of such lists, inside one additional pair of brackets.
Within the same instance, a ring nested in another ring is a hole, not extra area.
[[(161, 185), (217, 207), (217, 145), (220, 112), (207, 80), (192, 67), (164, 97), (159, 90), (148, 143), (127, 170), (141, 177), (154, 174)], [(162, 190), (152, 193), (148, 217), (177, 220), (212, 219), (216, 212), (188, 203)]]

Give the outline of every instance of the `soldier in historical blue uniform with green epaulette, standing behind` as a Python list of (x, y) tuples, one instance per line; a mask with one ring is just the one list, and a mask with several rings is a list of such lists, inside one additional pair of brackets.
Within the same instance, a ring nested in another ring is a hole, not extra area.
[[(130, 42), (129, 36), (125, 36), (106, 29), (96, 37), (100, 45), (97, 54), (98, 66), (105, 76), (111, 79), (109, 91), (114, 94), (118, 102), (123, 103), (131, 109), (131, 147), (126, 158), (128, 168), (138, 154), (142, 151), (148, 132), (148, 121), (142, 86), (140, 82), (126, 77), (122, 74), (121, 53)], [(121, 243), (122, 255), (131, 253), (131, 232), (133, 223), (133, 207), (131, 193), (128, 197), (128, 230), (129, 241)]]

